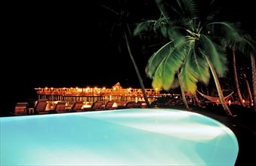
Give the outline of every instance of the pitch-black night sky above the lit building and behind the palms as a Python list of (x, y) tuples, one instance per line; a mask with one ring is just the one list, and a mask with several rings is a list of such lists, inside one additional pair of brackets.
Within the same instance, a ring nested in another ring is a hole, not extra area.
[[(217, 2), (223, 19), (254, 26), (252, 1)], [(115, 18), (100, 4), (119, 10), (116, 0), (8, 2), (2, 6), (1, 77), (6, 104), (0, 109), (37, 97), (33, 88), (39, 87), (111, 88), (119, 81), (124, 88), (140, 88), (126, 48), (119, 52), (110, 38)], [(132, 23), (159, 17), (153, 0), (128, 0), (125, 7)], [(131, 51), (145, 88), (151, 88), (144, 72), (151, 54), (142, 54), (141, 45), (137, 42)]]

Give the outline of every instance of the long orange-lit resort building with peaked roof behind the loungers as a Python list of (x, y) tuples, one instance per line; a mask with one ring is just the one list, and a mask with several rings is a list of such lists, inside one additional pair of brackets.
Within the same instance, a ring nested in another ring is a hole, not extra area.
[[(76, 101), (83, 101), (84, 107), (90, 107), (95, 101), (102, 101), (106, 104), (109, 101), (116, 103), (116, 106), (125, 106), (130, 101), (144, 101), (143, 92), (140, 88), (122, 88), (119, 82), (112, 88), (35, 88), (39, 100), (48, 100), (50, 103), (65, 101), (72, 105)], [(148, 100), (152, 103), (158, 97), (170, 94), (160, 94), (158, 89), (145, 89)]]

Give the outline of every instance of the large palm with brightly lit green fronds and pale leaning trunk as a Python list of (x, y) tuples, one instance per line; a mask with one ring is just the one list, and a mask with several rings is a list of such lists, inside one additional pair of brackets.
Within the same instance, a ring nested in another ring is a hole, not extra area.
[(238, 29), (232, 23), (214, 20), (214, 14), (207, 13), (209, 10), (199, 13), (199, 4), (194, 0), (175, 2), (169, 5), (164, 0), (156, 0), (161, 11), (159, 20), (144, 21), (134, 30), (134, 35), (140, 35), (145, 29), (153, 29), (169, 38), (147, 64), (147, 75), (153, 79), (153, 88), (168, 91), (178, 74), (182, 88), (195, 94), (197, 83), (208, 85), (212, 75), (224, 111), (233, 115), (224, 102), (218, 79), (227, 73), (227, 52), (220, 39), (236, 41)]

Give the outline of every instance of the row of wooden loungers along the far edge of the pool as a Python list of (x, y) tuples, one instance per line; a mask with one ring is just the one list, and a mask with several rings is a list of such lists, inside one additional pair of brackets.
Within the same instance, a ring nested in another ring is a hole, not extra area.
[[(99, 110), (111, 110), (117, 109), (114, 107), (113, 101), (109, 101), (104, 104), (102, 101), (94, 102), (91, 107), (84, 109), (83, 101), (76, 101), (72, 106), (66, 106), (66, 102), (59, 101), (55, 104), (54, 109), (46, 110), (48, 105), (48, 100), (37, 100), (34, 107), (29, 107), (29, 103), (17, 103), (14, 109), (14, 112), (10, 112), (12, 115), (39, 115), (47, 113), (64, 113), (64, 112), (85, 112), (85, 111), (99, 111)], [(122, 108), (142, 108), (145, 105), (145, 102), (130, 101), (125, 104)]]

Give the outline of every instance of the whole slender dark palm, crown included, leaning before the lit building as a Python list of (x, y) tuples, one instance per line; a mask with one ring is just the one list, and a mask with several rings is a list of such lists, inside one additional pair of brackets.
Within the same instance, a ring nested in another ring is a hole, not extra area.
[(149, 103), (149, 100), (147, 98), (147, 94), (146, 94), (146, 91), (145, 91), (145, 88), (144, 88), (144, 85), (143, 85), (143, 79), (141, 78), (140, 76), (140, 72), (139, 72), (139, 69), (137, 67), (137, 64), (134, 60), (134, 57), (133, 55), (131, 54), (131, 48), (130, 48), (130, 44), (129, 44), (129, 41), (131, 41), (131, 38), (132, 38), (132, 33), (131, 33), (131, 29), (130, 29), (130, 26), (128, 25), (128, 16), (129, 14), (125, 12), (125, 10), (122, 8), (120, 13), (117, 12), (117, 11), (114, 11), (112, 8), (109, 8), (105, 5), (101, 5), (103, 8), (106, 8), (108, 11), (112, 12), (112, 14), (115, 14), (116, 15), (116, 18), (117, 18), (117, 22), (116, 23), (113, 23), (113, 29), (115, 29), (116, 27), (115, 26), (118, 26), (120, 29), (120, 31), (122, 32), (122, 37), (125, 38), (125, 43), (126, 43), (126, 47), (128, 49), (128, 54), (131, 58), (131, 61), (134, 65), (134, 69), (135, 69), (135, 72), (137, 74), (137, 78), (138, 80), (140, 81), (140, 87), (142, 89), (142, 92), (143, 92), (143, 98), (145, 100), (145, 102), (147, 103), (147, 107), (149, 108), (150, 107), (150, 103)]

